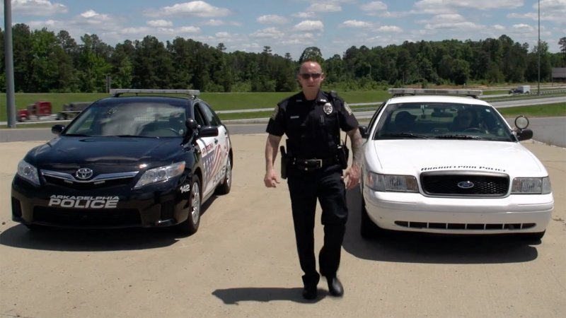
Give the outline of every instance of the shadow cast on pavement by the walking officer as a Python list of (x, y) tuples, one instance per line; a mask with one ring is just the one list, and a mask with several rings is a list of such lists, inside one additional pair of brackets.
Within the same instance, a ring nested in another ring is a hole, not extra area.
[(305, 300), (302, 296), (303, 288), (278, 288), (278, 287), (248, 287), (217, 289), (212, 292), (226, 305), (238, 305), (238, 302), (270, 302), (275, 300), (289, 300), (310, 304), (318, 302), (328, 295), (325, 290), (318, 289), (318, 297), (315, 300)]

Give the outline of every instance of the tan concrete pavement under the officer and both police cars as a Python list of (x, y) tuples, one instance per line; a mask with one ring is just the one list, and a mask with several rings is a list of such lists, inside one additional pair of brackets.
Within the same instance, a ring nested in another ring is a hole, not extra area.
[[(550, 173), (555, 211), (538, 245), (492, 237), (359, 237), (359, 191), (339, 276), (301, 298), (287, 184), (263, 186), (265, 134), (233, 136), (230, 194), (200, 230), (29, 232), (11, 221), (10, 183), (37, 141), (1, 143), (0, 317), (562, 317), (566, 308), (566, 150), (525, 146)], [(512, 158), (510, 158), (512, 160)], [(279, 162), (279, 160), (277, 160)], [(320, 209), (317, 218), (320, 217)], [(316, 224), (316, 247), (323, 232)]]

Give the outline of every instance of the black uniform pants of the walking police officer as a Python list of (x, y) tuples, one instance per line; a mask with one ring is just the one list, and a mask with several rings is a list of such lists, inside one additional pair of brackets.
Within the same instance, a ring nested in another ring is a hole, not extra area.
[(290, 167), (287, 182), (291, 195), (296, 247), (301, 269), (304, 271), (303, 282), (305, 285), (315, 285), (320, 278), (316, 271), (314, 254), (316, 199), (322, 208), (321, 220), (324, 225), (324, 245), (318, 254), (320, 274), (333, 277), (340, 265), (340, 252), (348, 216), (342, 170), (338, 165), (312, 172)]

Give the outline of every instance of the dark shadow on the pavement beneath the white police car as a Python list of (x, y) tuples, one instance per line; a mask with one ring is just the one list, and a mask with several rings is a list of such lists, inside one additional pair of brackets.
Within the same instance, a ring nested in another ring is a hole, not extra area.
[(350, 209), (343, 247), (360, 259), (424, 264), (504, 264), (532, 261), (536, 247), (512, 235), (426, 235), (391, 232), (374, 240), (359, 235), (362, 194), (347, 192)]

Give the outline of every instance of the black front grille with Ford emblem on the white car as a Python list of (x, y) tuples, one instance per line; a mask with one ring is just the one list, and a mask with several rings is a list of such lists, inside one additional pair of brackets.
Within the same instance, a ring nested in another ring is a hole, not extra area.
[(497, 172), (425, 172), (422, 191), (430, 196), (506, 196), (509, 176)]

